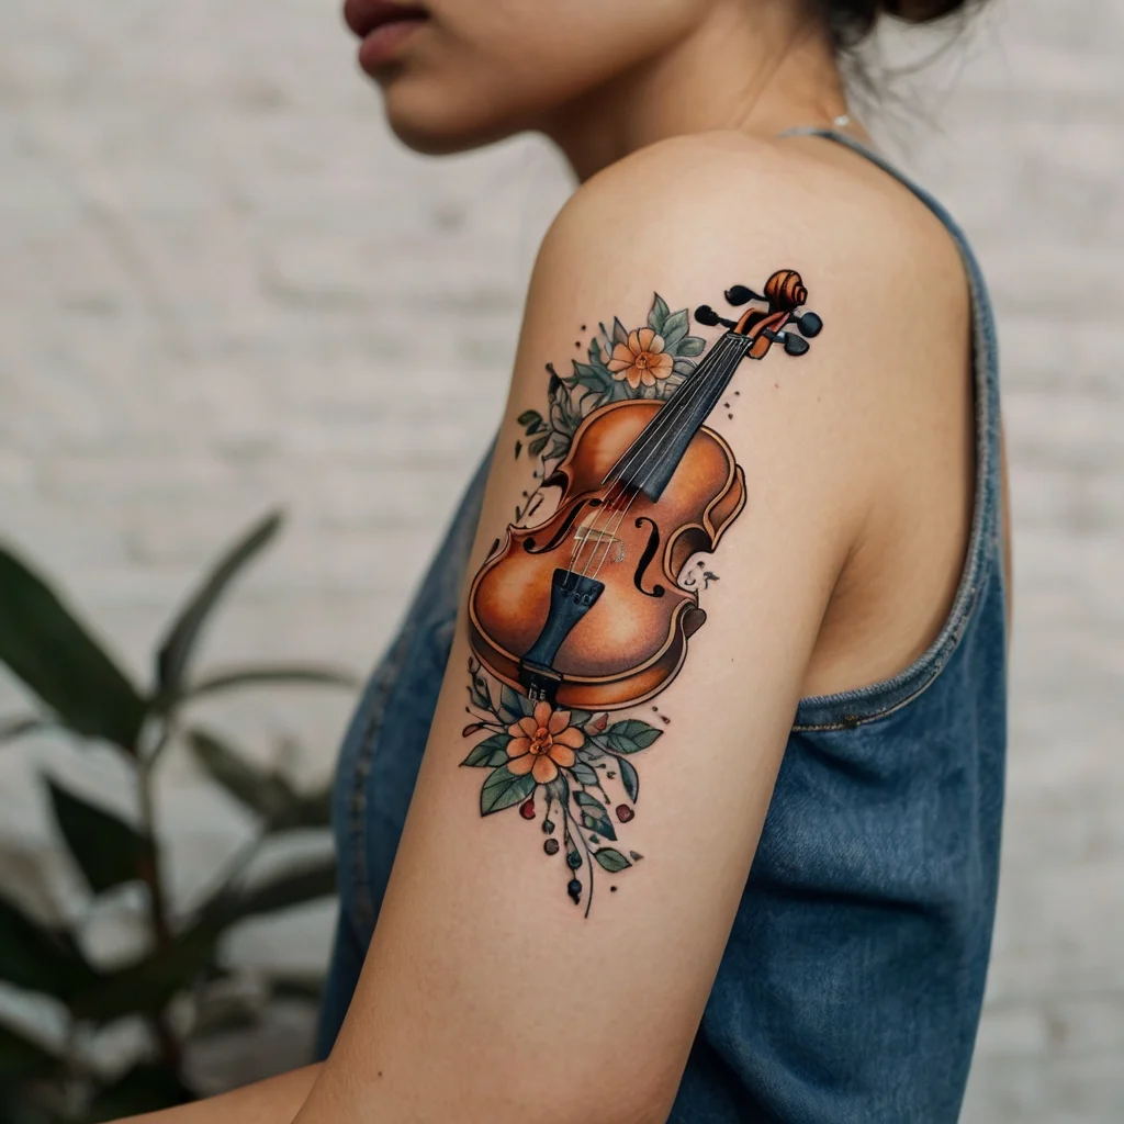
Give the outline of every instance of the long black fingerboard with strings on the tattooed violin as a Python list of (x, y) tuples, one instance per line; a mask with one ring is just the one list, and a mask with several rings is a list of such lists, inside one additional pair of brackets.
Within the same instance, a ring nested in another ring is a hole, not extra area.
[(658, 500), (752, 346), (752, 338), (734, 332), (719, 336), (609, 470), (606, 483), (616, 481)]

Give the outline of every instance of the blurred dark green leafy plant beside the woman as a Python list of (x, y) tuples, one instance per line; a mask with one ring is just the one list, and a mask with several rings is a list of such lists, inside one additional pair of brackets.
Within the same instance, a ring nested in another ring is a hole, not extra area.
[[(215, 607), (280, 525), (280, 515), (271, 514), (218, 561), (164, 634), (147, 688), (133, 682), (43, 578), (0, 547), (0, 663), (38, 703), (35, 713), (0, 718), (0, 744), (56, 729), (82, 744), (108, 744), (119, 754), (135, 782), (133, 822), (56, 780), (45, 783), (62, 841), (91, 899), (139, 885), (151, 936), (149, 951), (135, 963), (99, 968), (83, 952), (79, 923), (45, 926), (0, 888), (0, 981), (61, 1001), (71, 1043), (127, 1016), (143, 1017), (155, 1043), (151, 1060), (109, 1082), (83, 1061), (79, 1049), (53, 1051), (13, 1026), (0, 1025), (0, 1121), (108, 1120), (189, 1098), (183, 1046), (190, 1032), (183, 1030), (182, 1018), (173, 1017), (173, 1000), (190, 994), (198, 998), (200, 988), (221, 979), (217, 948), (230, 926), (334, 891), (328, 858), (266, 880), (245, 877), (265, 839), (326, 825), (327, 791), (298, 791), (280, 770), (252, 763), (191, 717), (200, 698), (239, 689), (354, 683), (334, 668), (289, 664), (193, 673), (198, 642)], [(157, 767), (173, 745), (191, 752), (260, 824), (212, 892), (182, 916), (169, 900), (153, 799)], [(277, 987), (291, 994), (294, 986), (280, 980)]]

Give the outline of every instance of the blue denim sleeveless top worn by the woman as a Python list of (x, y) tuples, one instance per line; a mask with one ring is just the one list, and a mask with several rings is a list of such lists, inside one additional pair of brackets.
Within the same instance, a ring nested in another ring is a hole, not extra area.
[[(975, 513), (948, 622), (894, 679), (800, 701), (760, 846), (670, 1120), (952, 1124), (995, 912), (1006, 741), (996, 338), (973, 302)], [(334, 798), (341, 914), (320, 1051), (374, 930), (448, 659), (487, 462), (346, 735)]]

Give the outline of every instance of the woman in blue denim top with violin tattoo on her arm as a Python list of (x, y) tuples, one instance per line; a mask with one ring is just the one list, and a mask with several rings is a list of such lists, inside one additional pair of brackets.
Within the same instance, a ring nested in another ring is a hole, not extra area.
[(962, 7), (347, 0), (408, 145), (537, 129), (580, 187), (344, 747), (330, 1057), (170, 1118), (955, 1121), (1005, 741), (995, 339), (839, 64)]

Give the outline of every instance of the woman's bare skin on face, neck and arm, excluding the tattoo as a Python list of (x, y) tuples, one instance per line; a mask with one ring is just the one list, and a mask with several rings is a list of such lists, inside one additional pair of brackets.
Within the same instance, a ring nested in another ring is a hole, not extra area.
[[(646, 767), (643, 877), (583, 922), (538, 877), (518, 822), (481, 821), (479, 777), (455, 768), (462, 611), (332, 1058), (148, 1124), (665, 1120), (798, 699), (907, 667), (960, 577), (975, 472), (963, 270), (888, 176), (822, 139), (778, 138), (845, 109), (803, 6), (577, 0), (549, 34), (545, 0), (428, 10), (373, 67), (399, 135), (452, 151), (540, 129), (581, 181), (540, 252), (500, 447), (542, 408), (544, 363), (572, 353), (575, 327), (618, 310), (640, 323), (653, 290), (694, 308), (791, 264), (827, 327), (798, 364), (742, 371), (722, 422), (750, 502), (723, 541), (705, 629), (661, 696), (676, 727)], [(470, 575), (525, 477), (497, 461)], [(590, 1009), (563, 1058), (575, 964)]]

